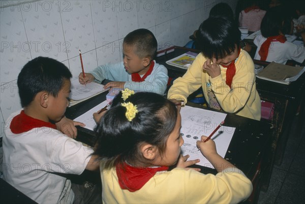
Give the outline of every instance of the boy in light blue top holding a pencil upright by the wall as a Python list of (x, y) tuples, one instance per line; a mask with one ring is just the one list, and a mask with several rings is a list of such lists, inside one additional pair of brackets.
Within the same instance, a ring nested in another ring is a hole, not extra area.
[(124, 38), (123, 62), (98, 66), (93, 72), (79, 74), (81, 84), (94, 80), (102, 82), (111, 80), (105, 88), (129, 88), (136, 91), (147, 91), (164, 94), (168, 76), (165, 66), (156, 63), (157, 40), (147, 29), (134, 30)]

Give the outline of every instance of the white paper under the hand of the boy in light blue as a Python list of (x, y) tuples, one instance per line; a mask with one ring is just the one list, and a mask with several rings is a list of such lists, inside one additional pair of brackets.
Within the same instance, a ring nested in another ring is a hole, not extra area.
[(81, 100), (93, 96), (96, 93), (106, 91), (104, 86), (95, 82), (88, 83), (86, 85), (80, 84), (78, 78), (71, 80), (71, 93), (70, 98), (73, 100)]

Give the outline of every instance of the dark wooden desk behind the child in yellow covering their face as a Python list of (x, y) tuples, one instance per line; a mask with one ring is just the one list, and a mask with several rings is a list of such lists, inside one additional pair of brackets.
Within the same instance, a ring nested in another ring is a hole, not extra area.
[[(167, 67), (169, 77), (181, 77), (186, 73), (187, 70), (168, 65), (166, 64), (166, 61), (189, 50), (190, 49), (175, 46), (174, 51), (158, 57), (156, 61)], [(198, 50), (191, 51), (199, 53)], [(254, 63), (264, 66), (268, 64), (268, 62), (262, 62), (259, 60), (254, 60)], [(269, 171), (266, 173), (262, 190), (267, 190), (268, 188), (273, 163), (280, 164), (282, 162), (292, 118), (296, 113), (298, 105), (302, 103), (301, 107), (302, 109), (304, 108), (304, 79), (305, 74), (303, 74), (297, 81), (292, 82), (290, 85), (284, 85), (256, 78), (256, 88), (261, 99), (275, 104), (273, 119), (270, 121), (274, 127), (274, 132), (271, 139), (271, 145), (269, 147)], [(299, 118), (299, 129), (301, 128), (300, 124), (303, 120), (303, 116)]]

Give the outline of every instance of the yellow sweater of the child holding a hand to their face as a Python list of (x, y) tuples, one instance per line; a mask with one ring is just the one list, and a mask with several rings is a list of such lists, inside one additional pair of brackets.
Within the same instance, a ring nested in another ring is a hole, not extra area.
[(209, 105), (209, 92), (214, 92), (222, 110), (228, 113), (260, 120), (261, 102), (256, 90), (254, 63), (250, 55), (240, 50), (235, 60), (236, 74), (232, 80), (232, 90), (226, 84), (227, 68), (221, 66), (221, 75), (211, 78), (202, 71), (206, 58), (198, 54), (193, 64), (183, 77), (177, 78), (168, 91), (168, 98), (182, 99), (202, 86), (204, 97)]

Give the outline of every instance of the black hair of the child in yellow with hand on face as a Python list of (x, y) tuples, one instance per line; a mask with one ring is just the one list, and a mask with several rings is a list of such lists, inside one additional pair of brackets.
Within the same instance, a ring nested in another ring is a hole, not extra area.
[(240, 42), (240, 30), (236, 22), (224, 16), (209, 17), (201, 23), (197, 32), (202, 54), (211, 59), (225, 57)]

